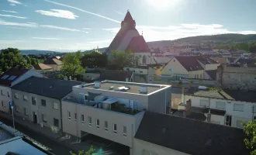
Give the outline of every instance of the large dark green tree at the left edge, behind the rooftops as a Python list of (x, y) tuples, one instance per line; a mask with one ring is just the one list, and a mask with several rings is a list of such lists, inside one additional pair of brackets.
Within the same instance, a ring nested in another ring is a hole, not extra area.
[(0, 73), (9, 70), (11, 67), (32, 67), (20, 54), (20, 50), (16, 48), (8, 48), (1, 50), (0, 53)]

